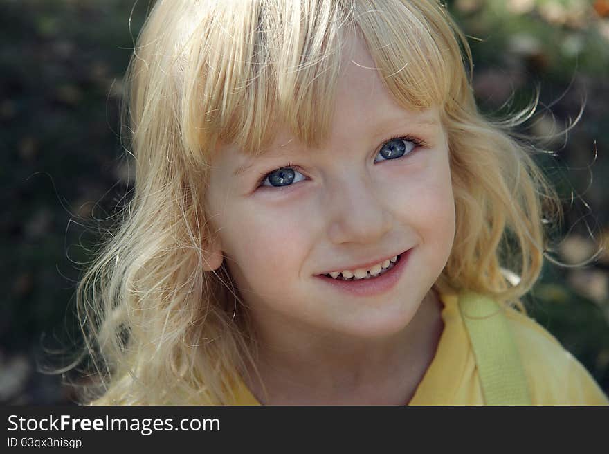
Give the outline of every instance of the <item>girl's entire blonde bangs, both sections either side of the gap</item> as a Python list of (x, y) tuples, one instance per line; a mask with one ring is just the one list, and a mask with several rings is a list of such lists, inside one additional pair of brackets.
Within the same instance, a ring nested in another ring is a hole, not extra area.
[(204, 162), (217, 140), (257, 156), (278, 125), (318, 147), (329, 134), (344, 48), (353, 34), (367, 44), (399, 105), (442, 106), (462, 85), (455, 73), (464, 75), (445, 21), (442, 8), (417, 1), (250, 0), (210, 10), (188, 45), (186, 148), (203, 152)]

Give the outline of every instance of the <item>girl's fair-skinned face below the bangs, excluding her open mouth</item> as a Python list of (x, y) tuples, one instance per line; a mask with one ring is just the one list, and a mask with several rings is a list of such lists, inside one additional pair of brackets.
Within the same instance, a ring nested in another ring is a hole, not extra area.
[[(399, 107), (366, 48), (350, 44), (326, 143), (307, 149), (278, 127), (269, 152), (242, 174), (233, 172), (251, 158), (233, 146), (221, 147), (212, 163), (206, 203), (217, 250), (263, 335), (397, 334), (453, 246), (455, 206), (439, 112)], [(349, 295), (318, 277), (408, 249), (401, 278), (380, 295)]]

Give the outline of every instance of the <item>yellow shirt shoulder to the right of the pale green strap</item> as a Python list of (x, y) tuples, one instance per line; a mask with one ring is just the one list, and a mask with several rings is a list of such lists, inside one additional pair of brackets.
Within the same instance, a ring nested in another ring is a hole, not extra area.
[(606, 405), (588, 370), (552, 334), (516, 309), (506, 310), (535, 405)]

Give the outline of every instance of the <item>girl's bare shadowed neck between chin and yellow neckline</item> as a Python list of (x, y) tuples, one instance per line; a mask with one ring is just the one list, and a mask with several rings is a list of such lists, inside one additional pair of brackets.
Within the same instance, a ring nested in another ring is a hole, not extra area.
[(444, 328), (441, 311), (432, 290), (410, 323), (392, 336), (318, 334), (281, 343), (262, 338), (257, 368), (267, 394), (257, 381), (248, 387), (267, 405), (404, 405), (435, 355)]

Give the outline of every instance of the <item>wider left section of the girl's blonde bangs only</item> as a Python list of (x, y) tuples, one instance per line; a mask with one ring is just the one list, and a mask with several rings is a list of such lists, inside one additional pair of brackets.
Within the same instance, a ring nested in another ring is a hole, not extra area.
[(185, 73), (183, 125), (196, 131), (188, 148), (209, 158), (220, 140), (257, 155), (279, 124), (318, 145), (329, 133), (346, 21), (338, 2), (243, 1), (202, 23), (207, 39), (195, 33)]

